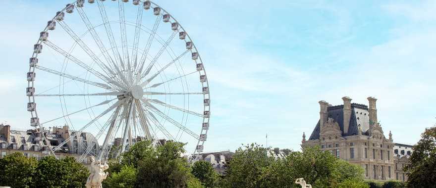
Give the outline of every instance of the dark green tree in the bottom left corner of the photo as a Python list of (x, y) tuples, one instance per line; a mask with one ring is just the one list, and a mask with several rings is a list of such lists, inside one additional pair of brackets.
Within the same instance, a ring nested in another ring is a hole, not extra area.
[(0, 185), (28, 188), (32, 183), (37, 161), (15, 152), (0, 159)]

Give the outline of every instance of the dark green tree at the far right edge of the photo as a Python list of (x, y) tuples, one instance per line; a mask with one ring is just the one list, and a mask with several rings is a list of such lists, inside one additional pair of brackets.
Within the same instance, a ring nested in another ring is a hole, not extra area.
[(413, 147), (407, 172), (407, 187), (430, 188), (436, 182), (436, 127), (421, 134), (421, 140)]

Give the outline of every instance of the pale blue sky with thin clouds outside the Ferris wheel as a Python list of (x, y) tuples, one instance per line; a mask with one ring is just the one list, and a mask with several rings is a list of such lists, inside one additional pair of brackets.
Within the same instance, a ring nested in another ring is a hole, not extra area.
[[(0, 121), (26, 130), (28, 56), (68, 0), (2, 1)], [(156, 0), (199, 48), (211, 87), (205, 149), (300, 149), (319, 100), (378, 98), (385, 136), (413, 144), (435, 123), (435, 1)]]

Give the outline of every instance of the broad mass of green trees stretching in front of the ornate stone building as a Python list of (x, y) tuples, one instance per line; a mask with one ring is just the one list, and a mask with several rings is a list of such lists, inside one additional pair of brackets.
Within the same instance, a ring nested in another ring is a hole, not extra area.
[(226, 181), (221, 187), (298, 188), (295, 179), (304, 178), (314, 188), (346, 187), (363, 183), (363, 168), (337, 159), (319, 147), (290, 152), (285, 159), (268, 157), (257, 144), (239, 148), (228, 163)]

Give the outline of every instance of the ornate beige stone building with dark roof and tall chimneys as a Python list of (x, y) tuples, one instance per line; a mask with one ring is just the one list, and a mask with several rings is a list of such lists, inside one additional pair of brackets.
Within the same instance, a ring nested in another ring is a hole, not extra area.
[(337, 106), (319, 101), (320, 120), (309, 140), (303, 133), (302, 148), (319, 145), (337, 158), (360, 165), (365, 179), (394, 179), (394, 143), (392, 134), (386, 138), (378, 122), (377, 99), (368, 97), (369, 106), (351, 103), (346, 96), (342, 100)]

